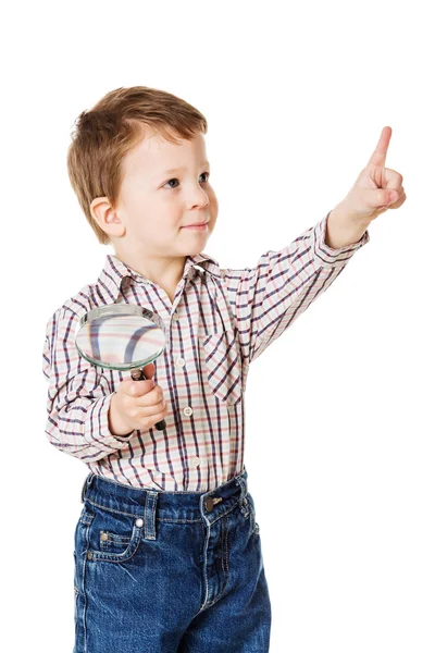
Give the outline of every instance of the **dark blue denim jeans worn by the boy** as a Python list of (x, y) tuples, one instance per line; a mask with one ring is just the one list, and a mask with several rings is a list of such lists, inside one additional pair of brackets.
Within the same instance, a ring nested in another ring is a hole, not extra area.
[(74, 535), (74, 653), (266, 653), (271, 602), (247, 471), (210, 492), (92, 472)]

